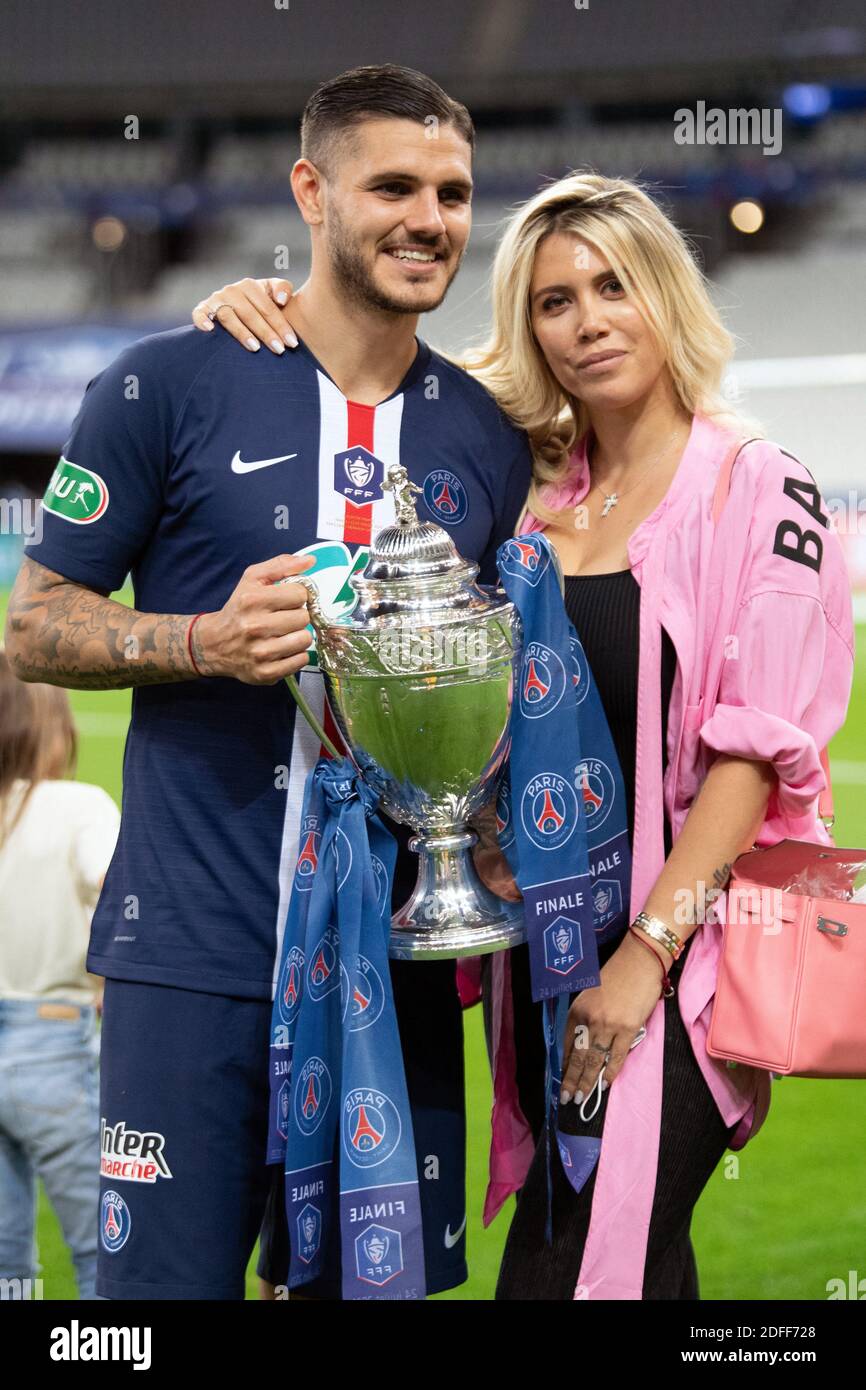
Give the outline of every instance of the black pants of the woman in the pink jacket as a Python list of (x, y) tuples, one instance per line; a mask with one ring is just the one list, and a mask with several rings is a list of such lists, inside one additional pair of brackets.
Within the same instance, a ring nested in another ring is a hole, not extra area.
[[(525, 948), (517, 948), (523, 951)], [(671, 967), (674, 986), (683, 972), (687, 951)], [(607, 952), (605, 952), (606, 955)], [(528, 1015), (541, 1009), (528, 998), (528, 972), (525, 962), (513, 958), (513, 992), (516, 1013), (516, 1034), (527, 1033)], [(601, 952), (599, 952), (601, 955)], [(517, 1024), (517, 1013), (523, 1015), (523, 1030)], [(541, 1017), (535, 1019), (541, 1038)], [(535, 1076), (538, 1059), (544, 1069), (544, 1047), (538, 1044), (535, 1055)], [(698, 1066), (692, 1045), (680, 1015), (678, 998), (674, 994), (664, 1001), (664, 1074), (662, 1090), (662, 1133), (659, 1140), (659, 1172), (649, 1223), (649, 1243), (644, 1270), (644, 1298), (699, 1298), (698, 1269), (689, 1237), (691, 1218), (695, 1202), (709, 1182), (719, 1159), (728, 1147), (734, 1129), (724, 1125), (712, 1091)], [(530, 1090), (530, 1074), (524, 1063), (520, 1091)], [(542, 1070), (544, 1077), (544, 1070)], [(616, 1081), (613, 1083), (616, 1086)], [(544, 1094), (544, 1081), (532, 1084), (532, 1093)], [(578, 1118), (574, 1104), (562, 1105), (559, 1123), (566, 1134), (601, 1136), (607, 1111), (610, 1090), (603, 1091), (601, 1105), (589, 1122)], [(527, 1094), (527, 1102), (530, 1095)], [(552, 1151), (550, 1170), (553, 1179), (553, 1244), (545, 1241), (545, 1220), (548, 1208), (545, 1141), (539, 1123), (541, 1109), (530, 1105), (534, 1112), (532, 1129), (538, 1144), (524, 1187), (517, 1197), (517, 1211), (509, 1230), (496, 1298), (542, 1298), (571, 1300), (582, 1261), (584, 1244), (589, 1230), (589, 1209), (595, 1191), (596, 1170), (592, 1172), (580, 1193), (575, 1193), (563, 1173), (562, 1163)], [(527, 1115), (530, 1119), (530, 1115)]]

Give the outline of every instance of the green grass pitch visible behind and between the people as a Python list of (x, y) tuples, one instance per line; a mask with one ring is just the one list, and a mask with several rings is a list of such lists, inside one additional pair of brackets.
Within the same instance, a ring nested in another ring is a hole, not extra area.
[[(128, 598), (126, 594), (118, 595)], [(0, 592), (0, 631), (6, 594)], [(866, 627), (858, 628), (858, 664), (848, 721), (830, 749), (845, 764), (834, 783), (840, 845), (866, 844)], [(79, 723), (78, 776), (99, 783), (120, 803), (129, 691), (72, 691)], [(484, 1230), (491, 1080), (480, 1009), (466, 1013), (468, 1098), (470, 1279), (438, 1298), (489, 1300), (513, 1200)], [(866, 1276), (866, 1086), (785, 1077), (773, 1086), (770, 1113), (758, 1137), (728, 1152), (713, 1173), (692, 1222), (701, 1297), (709, 1300), (826, 1298), (827, 1280)], [(75, 1282), (57, 1219), (40, 1190), (39, 1254), (46, 1298), (74, 1298)], [(254, 1259), (247, 1298), (257, 1297)]]

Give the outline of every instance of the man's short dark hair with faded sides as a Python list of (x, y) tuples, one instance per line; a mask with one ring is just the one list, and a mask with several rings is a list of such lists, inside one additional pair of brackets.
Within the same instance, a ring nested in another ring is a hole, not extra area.
[(453, 125), (475, 146), (473, 118), (438, 82), (414, 68), (395, 63), (350, 68), (322, 82), (307, 101), (300, 120), (300, 154), (328, 174), (350, 140), (352, 128), (377, 117), (395, 117), (425, 125), (430, 117)]

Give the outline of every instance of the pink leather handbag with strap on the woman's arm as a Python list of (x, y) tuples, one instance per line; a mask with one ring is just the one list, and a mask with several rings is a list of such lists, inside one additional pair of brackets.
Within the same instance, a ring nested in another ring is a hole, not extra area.
[[(717, 518), (740, 445), (726, 459)], [(819, 816), (833, 824), (830, 762)], [(783, 840), (731, 869), (706, 1049), (780, 1076), (866, 1077), (866, 849)]]

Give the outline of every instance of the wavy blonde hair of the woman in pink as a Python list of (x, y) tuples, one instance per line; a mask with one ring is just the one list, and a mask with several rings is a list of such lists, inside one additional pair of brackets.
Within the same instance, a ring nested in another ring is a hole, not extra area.
[(589, 424), (587, 407), (559, 384), (532, 332), (532, 267), (542, 240), (555, 232), (580, 236), (607, 259), (660, 345), (689, 414), (701, 411), (737, 432), (762, 434), (721, 395), (735, 341), (687, 238), (639, 183), (574, 171), (510, 217), (493, 259), (491, 332), (459, 359), (527, 431), (534, 455), (527, 506), (546, 521), (557, 513), (544, 502), (542, 489), (567, 477), (570, 453)]

